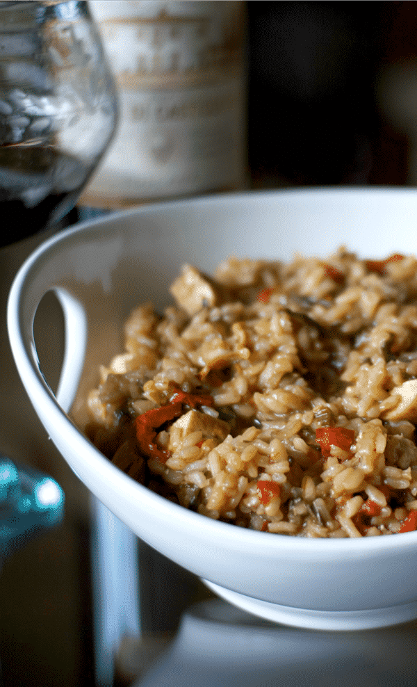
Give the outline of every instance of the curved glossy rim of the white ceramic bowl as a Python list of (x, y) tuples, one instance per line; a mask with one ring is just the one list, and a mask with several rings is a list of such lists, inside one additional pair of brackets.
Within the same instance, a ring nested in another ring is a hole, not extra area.
[[(108, 229), (117, 220), (129, 218), (133, 216), (141, 216), (144, 214), (153, 214), (166, 209), (175, 209), (176, 207), (184, 207), (189, 205), (199, 205), (206, 207), (229, 206), (230, 204), (239, 204), (243, 200), (250, 202), (261, 202), (265, 197), (280, 197), (282, 200), (286, 198), (295, 199), (297, 197), (308, 200), (311, 197), (324, 196), (339, 200), (343, 197), (352, 197), (359, 195), (363, 198), (373, 195), (385, 195), (390, 197), (414, 196), (417, 200), (417, 190), (412, 188), (295, 188), (295, 189), (279, 189), (278, 191), (249, 191), (242, 193), (219, 194), (203, 197), (195, 197), (185, 200), (172, 200), (163, 203), (147, 204), (144, 206), (126, 209), (108, 213), (105, 216), (85, 220), (81, 223), (76, 223), (72, 227), (63, 229), (63, 231), (54, 234), (46, 241), (43, 241), (36, 250), (24, 261), (21, 268), (19, 268), (17, 275), (13, 281), (10, 293), (8, 296), (7, 306), (7, 321), (8, 321), (8, 336), (10, 346), (17, 363), (19, 374), (22, 378), (26, 376), (24, 387), (27, 391), (27, 384), (35, 384), (35, 388), (41, 394), (40, 403), (45, 408), (45, 412), (49, 414), (51, 423), (61, 428), (68, 438), (71, 437), (74, 446), (78, 447), (88, 456), (88, 462), (92, 467), (100, 469), (102, 476), (108, 476), (113, 483), (120, 485), (121, 488), (137, 494), (140, 500), (149, 506), (149, 509), (156, 503), (158, 512), (163, 513), (164, 517), (175, 517), (177, 523), (181, 524), (183, 528), (204, 528), (211, 539), (222, 538), (223, 543), (233, 549), (242, 550), (243, 547), (252, 547), (259, 551), (262, 549), (262, 555), (268, 556), (268, 551), (271, 555), (277, 552), (287, 553), (304, 553), (306, 556), (320, 556), (323, 553), (339, 553), (348, 556), (351, 553), (369, 553), (375, 552), (407, 552), (415, 549), (417, 544), (417, 531), (402, 533), (398, 535), (382, 535), (362, 538), (303, 538), (301, 536), (274, 534), (269, 532), (254, 531), (249, 528), (240, 528), (234, 524), (227, 522), (220, 522), (209, 517), (200, 515), (197, 512), (183, 508), (177, 503), (173, 503), (165, 499), (159, 494), (151, 492), (147, 487), (133, 480), (133, 478), (126, 475), (119, 468), (115, 467), (95, 446), (90, 440), (85, 437), (82, 430), (79, 429), (70, 414), (67, 414), (58, 405), (56, 398), (52, 392), (48, 391), (46, 387), (42, 387), (38, 376), (35, 374), (31, 363), (27, 357), (27, 353), (22, 340), (21, 332), (19, 330), (19, 311), (21, 307), (22, 296), (27, 288), (28, 282), (33, 278), (42, 266), (42, 260), (47, 257), (49, 252), (59, 250), (60, 244), (65, 244), (71, 241), (72, 237), (78, 236), (85, 231), (94, 230), (100, 232), (103, 229)], [(59, 450), (59, 449), (58, 449)], [(61, 455), (63, 452), (60, 451)], [(65, 459), (65, 457), (64, 457)], [(70, 465), (70, 467), (72, 467)], [(174, 510), (172, 510), (174, 508)], [(120, 515), (118, 516), (120, 517)], [(123, 519), (123, 518), (121, 518)], [(248, 550), (250, 550), (248, 548)]]

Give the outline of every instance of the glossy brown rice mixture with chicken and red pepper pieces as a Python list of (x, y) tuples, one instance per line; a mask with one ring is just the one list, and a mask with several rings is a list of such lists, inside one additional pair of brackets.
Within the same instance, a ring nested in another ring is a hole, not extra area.
[(417, 528), (417, 260), (184, 266), (88, 397), (95, 445), (202, 515), (302, 537)]

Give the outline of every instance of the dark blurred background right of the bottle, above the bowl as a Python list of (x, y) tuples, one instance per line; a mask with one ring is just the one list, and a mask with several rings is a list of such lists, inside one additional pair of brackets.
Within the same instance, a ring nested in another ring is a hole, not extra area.
[(248, 10), (254, 186), (416, 183), (417, 3)]

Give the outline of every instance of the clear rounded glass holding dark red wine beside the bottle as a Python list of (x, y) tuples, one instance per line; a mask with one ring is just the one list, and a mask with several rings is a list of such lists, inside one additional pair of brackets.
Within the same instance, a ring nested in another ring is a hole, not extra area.
[(87, 1), (0, 2), (0, 245), (74, 207), (116, 119)]

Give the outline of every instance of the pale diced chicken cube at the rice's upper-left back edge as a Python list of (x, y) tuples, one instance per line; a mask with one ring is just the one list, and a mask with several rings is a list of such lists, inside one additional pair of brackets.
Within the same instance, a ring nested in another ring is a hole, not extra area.
[(195, 267), (185, 265), (181, 275), (170, 288), (172, 296), (189, 315), (193, 316), (207, 305), (218, 305), (218, 292), (213, 282)]

